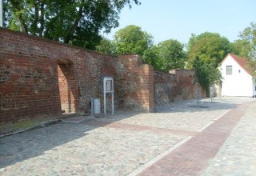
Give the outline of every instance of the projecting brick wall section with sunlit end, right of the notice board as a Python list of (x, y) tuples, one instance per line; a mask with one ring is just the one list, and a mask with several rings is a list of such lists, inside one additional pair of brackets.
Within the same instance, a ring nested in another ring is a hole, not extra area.
[(118, 60), (120, 106), (130, 109), (154, 110), (154, 70), (142, 64), (138, 55), (122, 55)]

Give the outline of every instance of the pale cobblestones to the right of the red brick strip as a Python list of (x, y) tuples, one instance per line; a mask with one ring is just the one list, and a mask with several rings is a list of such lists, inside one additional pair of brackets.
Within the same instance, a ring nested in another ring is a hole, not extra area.
[(246, 110), (202, 175), (256, 175), (256, 103)]

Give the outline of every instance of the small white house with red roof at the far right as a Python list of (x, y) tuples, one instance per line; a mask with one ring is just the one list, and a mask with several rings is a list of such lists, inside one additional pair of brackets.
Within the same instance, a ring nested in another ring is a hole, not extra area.
[(235, 54), (227, 54), (223, 59), (220, 70), (222, 72), (222, 96), (254, 97), (256, 85), (252, 71), (246, 66), (246, 58)]

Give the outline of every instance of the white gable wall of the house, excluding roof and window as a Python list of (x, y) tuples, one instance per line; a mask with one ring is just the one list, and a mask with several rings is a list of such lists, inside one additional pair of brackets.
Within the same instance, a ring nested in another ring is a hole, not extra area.
[[(232, 66), (232, 74), (226, 74), (226, 66)], [(252, 77), (230, 55), (222, 62), (220, 69), (223, 77), (222, 96), (253, 96)]]

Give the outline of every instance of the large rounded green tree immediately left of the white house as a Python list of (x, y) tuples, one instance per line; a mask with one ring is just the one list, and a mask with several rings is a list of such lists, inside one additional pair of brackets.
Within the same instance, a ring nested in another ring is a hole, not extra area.
[(188, 68), (196, 71), (198, 82), (208, 90), (221, 79), (218, 64), (234, 48), (227, 38), (217, 33), (192, 35), (188, 44)]

